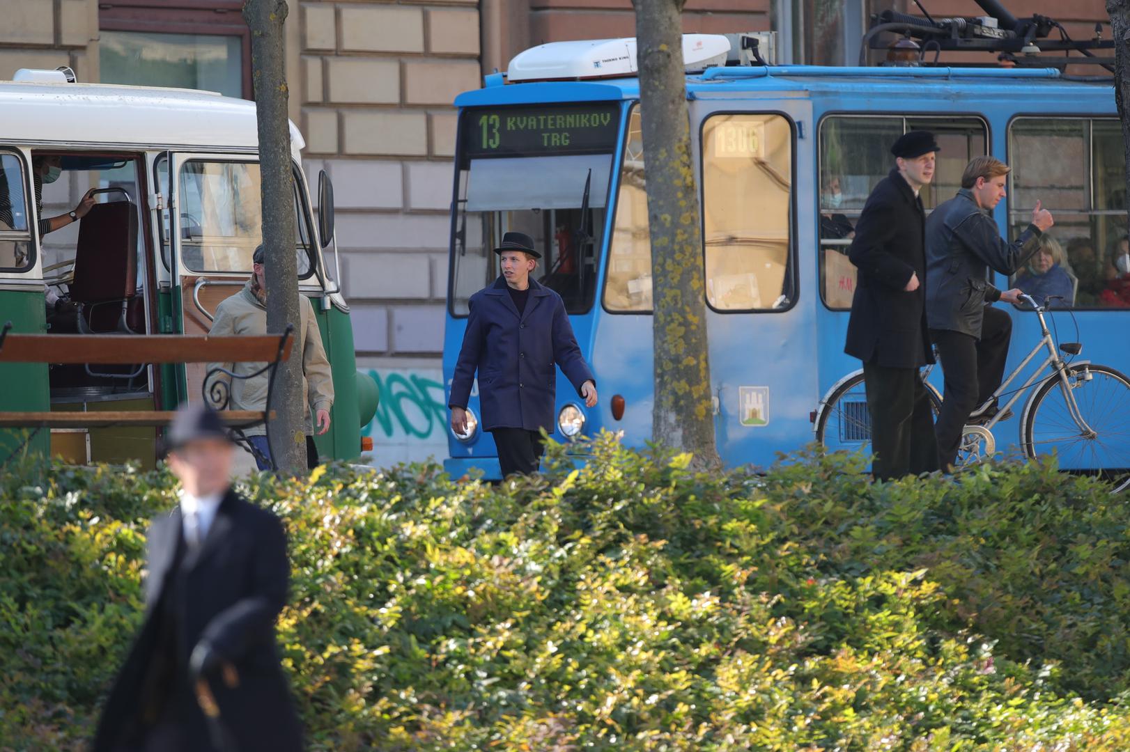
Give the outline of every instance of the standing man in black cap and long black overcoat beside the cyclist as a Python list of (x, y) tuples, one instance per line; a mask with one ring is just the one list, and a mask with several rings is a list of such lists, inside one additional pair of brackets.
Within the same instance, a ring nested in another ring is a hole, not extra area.
[(919, 367), (933, 362), (925, 320), (925, 212), (938, 145), (901, 135), (896, 167), (868, 196), (849, 251), (859, 269), (844, 352), (863, 361), (877, 480), (938, 469), (930, 400)]

